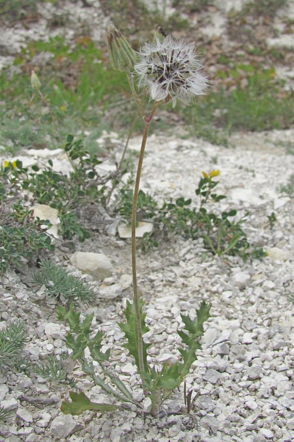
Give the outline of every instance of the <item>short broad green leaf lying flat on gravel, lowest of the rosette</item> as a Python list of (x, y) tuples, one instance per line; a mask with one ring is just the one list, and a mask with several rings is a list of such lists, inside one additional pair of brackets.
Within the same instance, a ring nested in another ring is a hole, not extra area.
[(123, 408), (120, 405), (100, 404), (98, 402), (92, 402), (82, 391), (80, 391), (79, 393), (70, 391), (70, 398), (72, 399), (72, 402), (63, 401), (61, 404), (60, 409), (64, 414), (79, 415), (86, 410), (103, 413), (112, 411), (116, 408)]

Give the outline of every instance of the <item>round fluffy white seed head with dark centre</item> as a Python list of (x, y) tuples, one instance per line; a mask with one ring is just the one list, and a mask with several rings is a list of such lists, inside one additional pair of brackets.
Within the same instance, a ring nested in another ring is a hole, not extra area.
[(170, 35), (164, 40), (156, 37), (153, 43), (141, 48), (139, 60), (134, 66), (139, 87), (147, 87), (155, 101), (172, 101), (172, 106), (177, 100), (189, 104), (207, 87), (207, 78), (199, 72), (202, 64), (194, 46), (183, 40), (174, 40)]

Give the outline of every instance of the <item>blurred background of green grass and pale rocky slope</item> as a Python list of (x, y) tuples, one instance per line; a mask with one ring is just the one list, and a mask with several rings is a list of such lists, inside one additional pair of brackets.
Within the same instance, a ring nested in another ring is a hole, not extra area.
[[(0, 0), (2, 150), (58, 146), (32, 70), (64, 139), (80, 135), (103, 155), (103, 131), (125, 137), (136, 107), (125, 74), (109, 63), (109, 24), (136, 51), (160, 27), (203, 57), (207, 94), (189, 107), (161, 107), (152, 131), (172, 127), (179, 137), (229, 146), (236, 131), (294, 127), (294, 0)], [(294, 154), (294, 142), (286, 147)]]

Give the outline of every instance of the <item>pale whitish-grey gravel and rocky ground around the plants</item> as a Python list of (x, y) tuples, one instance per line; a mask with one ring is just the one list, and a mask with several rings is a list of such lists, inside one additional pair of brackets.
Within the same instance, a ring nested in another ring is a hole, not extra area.
[[(93, 35), (101, 38), (109, 19), (98, 3), (93, 2), (94, 12), (77, 3), (76, 9), (69, 8), (69, 14), (75, 14), (77, 22), (81, 14), (87, 14), (85, 20), (93, 23), (99, 20)], [(211, 26), (221, 29), (223, 2), (214, 3)], [(69, 4), (64, 2), (63, 7)], [(52, 6), (48, 3), (44, 8)], [(22, 44), (27, 38), (39, 38), (40, 32), (45, 38), (42, 20), (46, 20), (45, 13), (28, 29), (21, 24), (5, 29), (11, 46), (16, 40)], [(41, 30), (34, 34), (38, 26)], [(220, 32), (222, 41), (227, 41), (225, 31)], [(56, 252), (55, 260), (74, 276), (83, 276), (95, 285), (96, 302), (83, 307), (82, 313), (94, 310), (94, 330), (104, 332), (105, 348), (112, 348), (116, 371), (134, 397), (143, 401), (145, 412), (138, 414), (130, 408), (108, 414), (64, 415), (60, 404), (68, 397), (67, 386), (48, 384), (40, 376), (8, 372), (0, 378), (0, 406), (11, 409), (13, 415), (0, 429), (1, 442), (294, 440), (294, 306), (289, 300), (294, 296), (294, 205), (293, 198), (278, 190), (294, 171), (294, 156), (287, 149), (293, 143), (294, 130), (233, 134), (229, 148), (185, 138), (180, 127), (175, 132), (148, 139), (141, 188), (159, 201), (169, 196), (194, 197), (202, 170), (220, 169), (218, 190), (227, 195), (221, 209), (235, 208), (239, 216), (248, 212), (244, 230), (249, 243), (268, 251), (263, 260), (246, 263), (240, 257), (216, 258), (210, 253), (204, 260), (203, 240), (184, 241), (172, 235), (147, 254), (138, 249), (139, 285), (150, 328), (146, 341), (152, 343), (150, 362), (161, 364), (178, 358), (180, 312), (193, 316), (201, 300), (212, 303), (203, 348), (186, 379), (187, 388), (200, 393), (195, 407), (186, 413), (181, 386), (156, 418), (148, 414), (140, 378), (122, 348), (123, 333), (117, 325), (122, 321), (125, 300), (131, 298), (131, 265), (129, 240), (118, 236), (118, 221), (114, 221), (108, 235), (98, 234), (92, 225), (91, 240), (77, 245), (80, 251), (105, 254), (111, 261), (111, 276), (102, 279), (82, 274), (70, 264), (71, 255), (65, 251)], [(117, 142), (116, 134), (111, 137)], [(131, 149), (139, 145), (139, 137), (131, 139)], [(51, 157), (48, 150), (27, 150), (25, 146), (17, 156), (26, 165), (42, 165)], [(4, 159), (9, 158), (1, 154), (1, 162)], [(104, 166), (106, 170), (107, 163)], [(61, 150), (54, 152), (54, 167), (68, 167)], [(277, 221), (270, 228), (268, 216), (272, 212)], [(56, 319), (56, 301), (31, 282), (34, 270), (8, 271), (0, 280), (0, 328), (14, 318), (25, 320), (29, 334), (25, 351), (32, 363), (66, 349), (66, 329)], [(109, 401), (79, 367), (74, 374), (77, 386), (91, 400)]]

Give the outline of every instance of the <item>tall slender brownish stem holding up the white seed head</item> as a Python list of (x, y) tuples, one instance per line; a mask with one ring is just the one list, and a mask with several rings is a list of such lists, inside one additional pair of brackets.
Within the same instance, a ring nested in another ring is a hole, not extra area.
[(143, 358), (143, 337), (142, 337), (142, 324), (141, 324), (141, 315), (140, 315), (140, 307), (139, 307), (139, 296), (138, 296), (138, 286), (137, 286), (137, 267), (136, 267), (136, 221), (137, 221), (137, 203), (138, 203), (138, 193), (139, 193), (139, 185), (140, 185), (140, 177), (141, 170), (143, 165), (143, 157), (145, 152), (145, 146), (150, 126), (150, 121), (156, 111), (158, 106), (158, 102), (154, 103), (154, 106), (149, 113), (148, 117), (144, 117), (145, 127), (143, 132), (137, 175), (135, 181), (135, 189), (133, 196), (133, 208), (132, 208), (132, 272), (133, 272), (133, 289), (134, 289), (134, 305), (136, 311), (136, 323), (137, 323), (137, 331), (138, 331), (138, 358), (139, 358), (139, 368), (140, 371), (144, 371), (144, 358)]

